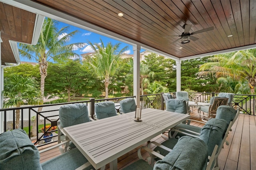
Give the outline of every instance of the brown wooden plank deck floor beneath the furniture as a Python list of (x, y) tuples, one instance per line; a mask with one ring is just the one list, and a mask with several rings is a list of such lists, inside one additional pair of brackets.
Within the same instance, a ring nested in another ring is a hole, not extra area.
[[(196, 111), (191, 114), (191, 119), (200, 120)], [(228, 134), (227, 140), (229, 145), (224, 145), (218, 162), (220, 170), (256, 170), (256, 117), (248, 115), (240, 115), (232, 127), (232, 131)], [(202, 127), (203, 124), (195, 123), (194, 126)], [(151, 141), (163, 142), (165, 139), (159, 135)], [(146, 146), (147, 143), (144, 144)], [(138, 147), (139, 148), (139, 147)], [(118, 158), (118, 169), (121, 170), (125, 166), (138, 160), (138, 148), (124, 154)], [(39, 150), (42, 149), (38, 148)], [(143, 152), (143, 158), (148, 156), (148, 153)], [(60, 154), (58, 148), (40, 154), (40, 162), (44, 162)], [(109, 164), (106, 165), (106, 170), (109, 170)]]

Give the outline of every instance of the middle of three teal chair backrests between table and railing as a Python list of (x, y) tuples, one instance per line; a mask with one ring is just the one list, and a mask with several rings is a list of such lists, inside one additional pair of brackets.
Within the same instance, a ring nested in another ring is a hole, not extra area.
[(104, 119), (117, 115), (115, 103), (112, 101), (95, 103), (94, 106), (97, 119)]

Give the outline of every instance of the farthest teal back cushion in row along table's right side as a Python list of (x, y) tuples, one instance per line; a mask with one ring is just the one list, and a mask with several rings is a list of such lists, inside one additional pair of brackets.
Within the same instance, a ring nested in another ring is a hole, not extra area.
[(216, 119), (224, 119), (229, 124), (236, 116), (236, 110), (228, 105), (221, 105), (216, 111)]

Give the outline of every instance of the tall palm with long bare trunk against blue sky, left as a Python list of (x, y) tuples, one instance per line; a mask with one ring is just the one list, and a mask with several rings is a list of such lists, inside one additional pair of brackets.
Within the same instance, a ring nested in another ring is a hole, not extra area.
[[(48, 61), (63, 61), (70, 57), (79, 57), (78, 54), (73, 52), (74, 47), (81, 48), (84, 43), (71, 43), (67, 44), (78, 31), (68, 32), (68, 26), (58, 30), (58, 22), (47, 18), (40, 33), (38, 43), (36, 45), (28, 45), (20, 43), (19, 52), (22, 57), (34, 59), (39, 64), (39, 71), (41, 75), (40, 91), (42, 99), (44, 97), (44, 81), (47, 76)], [(62, 38), (60, 38), (60, 36)], [(40, 112), (42, 108), (38, 108)], [(38, 116), (39, 119), (39, 116)], [(36, 132), (36, 121), (32, 128), (32, 136)]]

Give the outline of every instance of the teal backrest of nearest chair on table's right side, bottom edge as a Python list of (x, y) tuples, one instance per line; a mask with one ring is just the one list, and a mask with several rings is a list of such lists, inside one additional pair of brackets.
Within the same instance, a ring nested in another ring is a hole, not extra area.
[(203, 170), (208, 160), (204, 141), (182, 136), (169, 154), (154, 164), (154, 170)]

